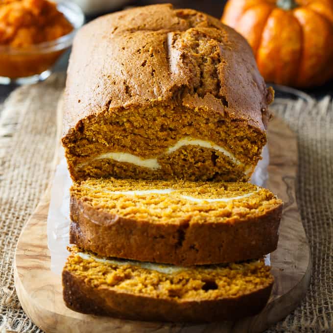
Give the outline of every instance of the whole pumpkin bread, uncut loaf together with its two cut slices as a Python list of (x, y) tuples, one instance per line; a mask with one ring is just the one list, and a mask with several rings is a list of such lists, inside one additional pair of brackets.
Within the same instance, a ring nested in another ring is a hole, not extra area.
[(247, 42), (195, 10), (139, 7), (78, 32), (62, 139), (70, 309), (185, 322), (263, 309), (282, 201), (245, 181), (273, 95)]

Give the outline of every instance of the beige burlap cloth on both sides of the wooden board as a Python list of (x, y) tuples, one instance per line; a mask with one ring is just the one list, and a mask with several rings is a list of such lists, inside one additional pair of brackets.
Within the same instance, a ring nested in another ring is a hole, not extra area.
[[(17, 89), (0, 118), (0, 332), (41, 332), (15, 293), (13, 256), (24, 223), (53, 171), (56, 105), (64, 75)], [(297, 133), (297, 201), (309, 238), (313, 273), (301, 305), (273, 332), (333, 332), (333, 105), (324, 97), (309, 110), (285, 100), (277, 110)], [(286, 147), (287, 149), (287, 147)]]

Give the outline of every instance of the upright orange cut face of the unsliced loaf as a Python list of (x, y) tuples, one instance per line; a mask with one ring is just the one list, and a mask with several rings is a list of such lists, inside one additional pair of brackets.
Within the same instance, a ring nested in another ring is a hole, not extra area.
[[(73, 179), (249, 179), (261, 158), (266, 134), (245, 121), (205, 109), (191, 110), (177, 103), (180, 101), (154, 103), (82, 120), (78, 129), (63, 139)], [(188, 144), (186, 140), (203, 141), (211, 147)], [(180, 142), (184, 145), (169, 151)], [(105, 153), (156, 159), (158, 166), (150, 168), (101, 158)]]

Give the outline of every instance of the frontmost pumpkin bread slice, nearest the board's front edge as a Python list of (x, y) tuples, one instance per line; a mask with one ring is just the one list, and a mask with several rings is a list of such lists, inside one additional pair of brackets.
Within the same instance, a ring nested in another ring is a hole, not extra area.
[(260, 312), (274, 281), (263, 259), (181, 267), (71, 251), (63, 297), (67, 307), (83, 313), (143, 321), (235, 320)]

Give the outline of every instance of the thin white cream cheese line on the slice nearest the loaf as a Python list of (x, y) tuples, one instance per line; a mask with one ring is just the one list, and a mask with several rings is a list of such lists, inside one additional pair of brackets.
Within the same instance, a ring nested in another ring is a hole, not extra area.
[[(92, 189), (90, 186), (83, 186), (86, 189)], [(246, 193), (244, 195), (237, 195), (237, 196), (232, 196), (232, 197), (221, 197), (221, 198), (196, 198), (191, 195), (179, 195), (181, 198), (185, 200), (189, 200), (195, 203), (204, 203), (204, 202), (229, 202), (233, 200), (240, 200), (247, 198), (255, 193), (257, 193), (260, 189), (257, 187), (256, 191)], [(172, 192), (175, 192), (176, 190), (174, 189), (151, 189), (151, 190), (130, 190), (130, 191), (109, 191), (109, 190), (102, 190), (102, 192), (108, 192), (111, 194), (124, 194), (124, 195), (137, 195), (137, 196), (143, 196), (147, 194), (169, 194)]]

